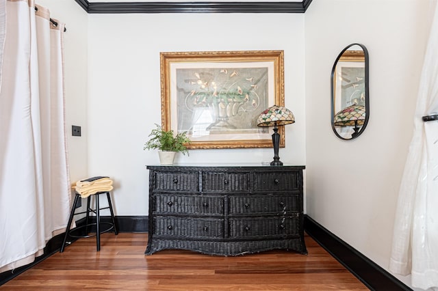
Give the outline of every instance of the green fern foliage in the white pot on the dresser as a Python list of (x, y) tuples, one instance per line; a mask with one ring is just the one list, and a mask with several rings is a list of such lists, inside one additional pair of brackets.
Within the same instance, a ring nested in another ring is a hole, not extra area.
[(168, 152), (181, 152), (181, 154), (188, 154), (189, 151), (185, 147), (185, 143), (190, 143), (187, 137), (187, 132), (178, 133), (175, 135), (173, 130), (163, 130), (161, 126), (155, 124), (157, 128), (151, 131), (149, 141), (144, 143), (143, 150), (162, 150)]

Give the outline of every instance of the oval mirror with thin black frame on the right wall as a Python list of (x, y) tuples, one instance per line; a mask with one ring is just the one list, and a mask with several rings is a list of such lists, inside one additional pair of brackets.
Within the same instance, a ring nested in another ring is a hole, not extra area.
[(368, 51), (363, 44), (350, 44), (331, 71), (331, 126), (340, 139), (355, 139), (369, 116)]

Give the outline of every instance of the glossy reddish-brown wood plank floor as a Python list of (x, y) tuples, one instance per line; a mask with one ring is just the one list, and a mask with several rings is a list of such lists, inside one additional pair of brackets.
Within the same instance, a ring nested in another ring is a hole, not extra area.
[(107, 233), (96, 252), (95, 238), (81, 238), (0, 290), (368, 290), (309, 236), (308, 255), (144, 255), (146, 242), (147, 234)]

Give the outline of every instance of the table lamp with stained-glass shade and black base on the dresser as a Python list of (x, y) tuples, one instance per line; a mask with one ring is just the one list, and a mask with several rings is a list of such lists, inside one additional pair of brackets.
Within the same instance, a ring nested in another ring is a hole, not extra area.
[(271, 106), (257, 118), (257, 126), (274, 126), (274, 133), (272, 134), (272, 145), (274, 146), (274, 161), (270, 163), (271, 166), (282, 166), (283, 163), (279, 157), (280, 134), (278, 133), (279, 125), (286, 125), (295, 122), (294, 113), (283, 106)]

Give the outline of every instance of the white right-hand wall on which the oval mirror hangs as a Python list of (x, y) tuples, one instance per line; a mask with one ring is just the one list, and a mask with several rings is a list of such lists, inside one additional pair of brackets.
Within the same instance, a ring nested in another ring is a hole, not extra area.
[[(385, 269), (429, 11), (428, 1), (324, 0), (305, 14), (307, 214)], [(354, 42), (370, 54), (370, 121), (343, 141), (331, 129), (330, 74)]]

